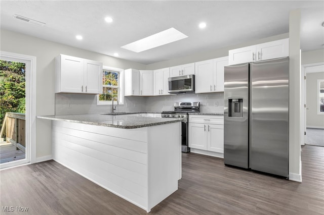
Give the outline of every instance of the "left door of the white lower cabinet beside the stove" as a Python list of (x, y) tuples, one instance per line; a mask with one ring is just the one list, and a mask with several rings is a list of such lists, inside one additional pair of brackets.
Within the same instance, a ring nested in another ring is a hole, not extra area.
[(189, 147), (207, 150), (207, 126), (200, 123), (189, 123)]

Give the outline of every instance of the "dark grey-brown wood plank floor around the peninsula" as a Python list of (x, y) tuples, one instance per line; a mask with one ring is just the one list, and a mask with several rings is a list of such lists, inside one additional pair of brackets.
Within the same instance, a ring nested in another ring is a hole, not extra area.
[[(302, 183), (226, 167), (221, 158), (182, 158), (179, 189), (150, 214), (324, 214), (324, 147), (302, 147)], [(0, 177), (1, 214), (147, 214), (53, 160)]]

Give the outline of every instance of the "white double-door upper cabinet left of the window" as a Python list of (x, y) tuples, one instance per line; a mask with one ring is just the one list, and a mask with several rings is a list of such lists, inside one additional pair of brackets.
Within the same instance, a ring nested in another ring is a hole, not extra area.
[(72, 56), (55, 58), (55, 92), (102, 93), (102, 63)]

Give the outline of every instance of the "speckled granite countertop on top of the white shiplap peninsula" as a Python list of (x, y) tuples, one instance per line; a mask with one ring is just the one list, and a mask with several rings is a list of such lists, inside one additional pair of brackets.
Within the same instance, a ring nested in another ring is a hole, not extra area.
[[(147, 112), (142, 112), (142, 113), (147, 113)], [(83, 123), (83, 124), (97, 125), (97, 126), (114, 127), (114, 128), (124, 128), (124, 129), (142, 128), (142, 127), (176, 123), (176, 122), (183, 121), (183, 119), (176, 119), (176, 118), (127, 116), (128, 114), (136, 114), (136, 113), (115, 113), (113, 115), (102, 115), (102, 114), (52, 115), (52, 116), (37, 116), (37, 118), (46, 119), (46, 120), (73, 122), (73, 123)]]

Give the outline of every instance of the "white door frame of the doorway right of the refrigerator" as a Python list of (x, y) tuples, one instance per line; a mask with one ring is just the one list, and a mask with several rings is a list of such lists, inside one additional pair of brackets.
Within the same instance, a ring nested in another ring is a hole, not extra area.
[[(307, 109), (307, 100), (306, 100), (306, 80), (307, 80), (307, 73), (313, 72), (322, 72), (324, 71), (324, 62), (314, 63), (314, 64), (303, 64), (302, 71), (301, 71), (301, 116), (300, 116), (300, 144), (305, 145), (307, 140), (307, 133), (306, 132), (306, 109)], [(306, 80), (304, 79), (306, 77)], [(306, 104), (306, 107), (304, 106)]]

